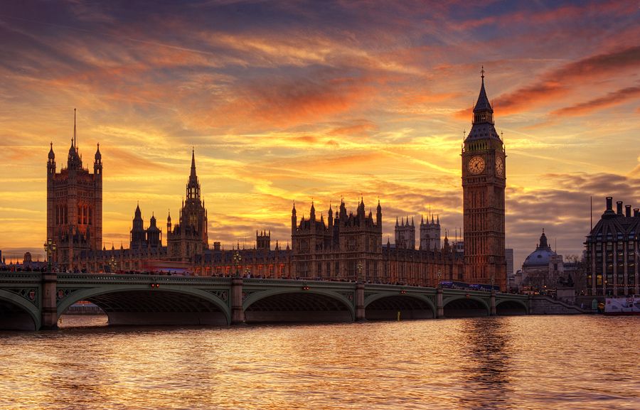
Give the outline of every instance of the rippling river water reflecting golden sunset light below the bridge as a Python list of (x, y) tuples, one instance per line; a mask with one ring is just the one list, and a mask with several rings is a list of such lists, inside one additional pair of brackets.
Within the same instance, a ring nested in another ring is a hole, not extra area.
[(640, 318), (0, 333), (0, 409), (640, 409)]

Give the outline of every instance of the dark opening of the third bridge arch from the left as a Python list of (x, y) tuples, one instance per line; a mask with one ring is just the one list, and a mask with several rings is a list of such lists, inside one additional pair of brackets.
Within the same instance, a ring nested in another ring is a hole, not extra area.
[(249, 323), (352, 322), (356, 318), (353, 301), (317, 288), (255, 291), (242, 302), (242, 308)]

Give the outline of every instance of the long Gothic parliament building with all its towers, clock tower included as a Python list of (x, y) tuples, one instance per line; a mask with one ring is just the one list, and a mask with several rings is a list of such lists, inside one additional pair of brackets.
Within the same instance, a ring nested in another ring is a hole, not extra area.
[[(201, 200), (195, 152), (186, 183), (186, 200), (177, 222), (167, 215), (163, 232), (155, 215), (145, 228), (139, 205), (134, 210), (129, 247), (102, 244), (102, 155), (95, 151), (93, 173), (85, 168), (75, 129), (66, 167), (56, 170), (51, 144), (47, 163), (47, 237), (57, 248), (58, 269), (75, 271), (152, 271), (186, 269), (194, 274), (270, 278), (363, 280), (435, 286), (438, 281), (493, 283), (506, 287), (504, 253), (505, 150), (494, 127), (494, 110), (484, 87), (474, 107), (471, 131), (462, 148), (464, 254), (456, 252), (447, 234), (441, 243), (439, 217), (395, 222), (395, 243), (383, 243), (383, 210), (366, 212), (363, 198), (355, 212), (340, 201), (320, 217), (311, 204), (308, 217), (291, 211), (291, 246), (271, 245), (267, 230), (256, 231), (251, 249), (209, 246), (208, 220)], [(165, 244), (163, 244), (163, 241)]]

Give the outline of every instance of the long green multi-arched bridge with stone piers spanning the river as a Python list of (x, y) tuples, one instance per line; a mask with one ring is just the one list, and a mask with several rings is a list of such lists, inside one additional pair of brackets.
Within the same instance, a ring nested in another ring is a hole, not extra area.
[(111, 325), (233, 325), (526, 315), (511, 293), (392, 284), (146, 274), (0, 272), (0, 329), (56, 328), (78, 301)]

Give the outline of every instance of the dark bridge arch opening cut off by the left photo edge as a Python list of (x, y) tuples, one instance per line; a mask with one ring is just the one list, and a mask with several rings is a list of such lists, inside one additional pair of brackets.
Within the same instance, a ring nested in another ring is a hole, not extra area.
[(37, 306), (14, 292), (0, 289), (0, 329), (38, 330), (40, 326)]

